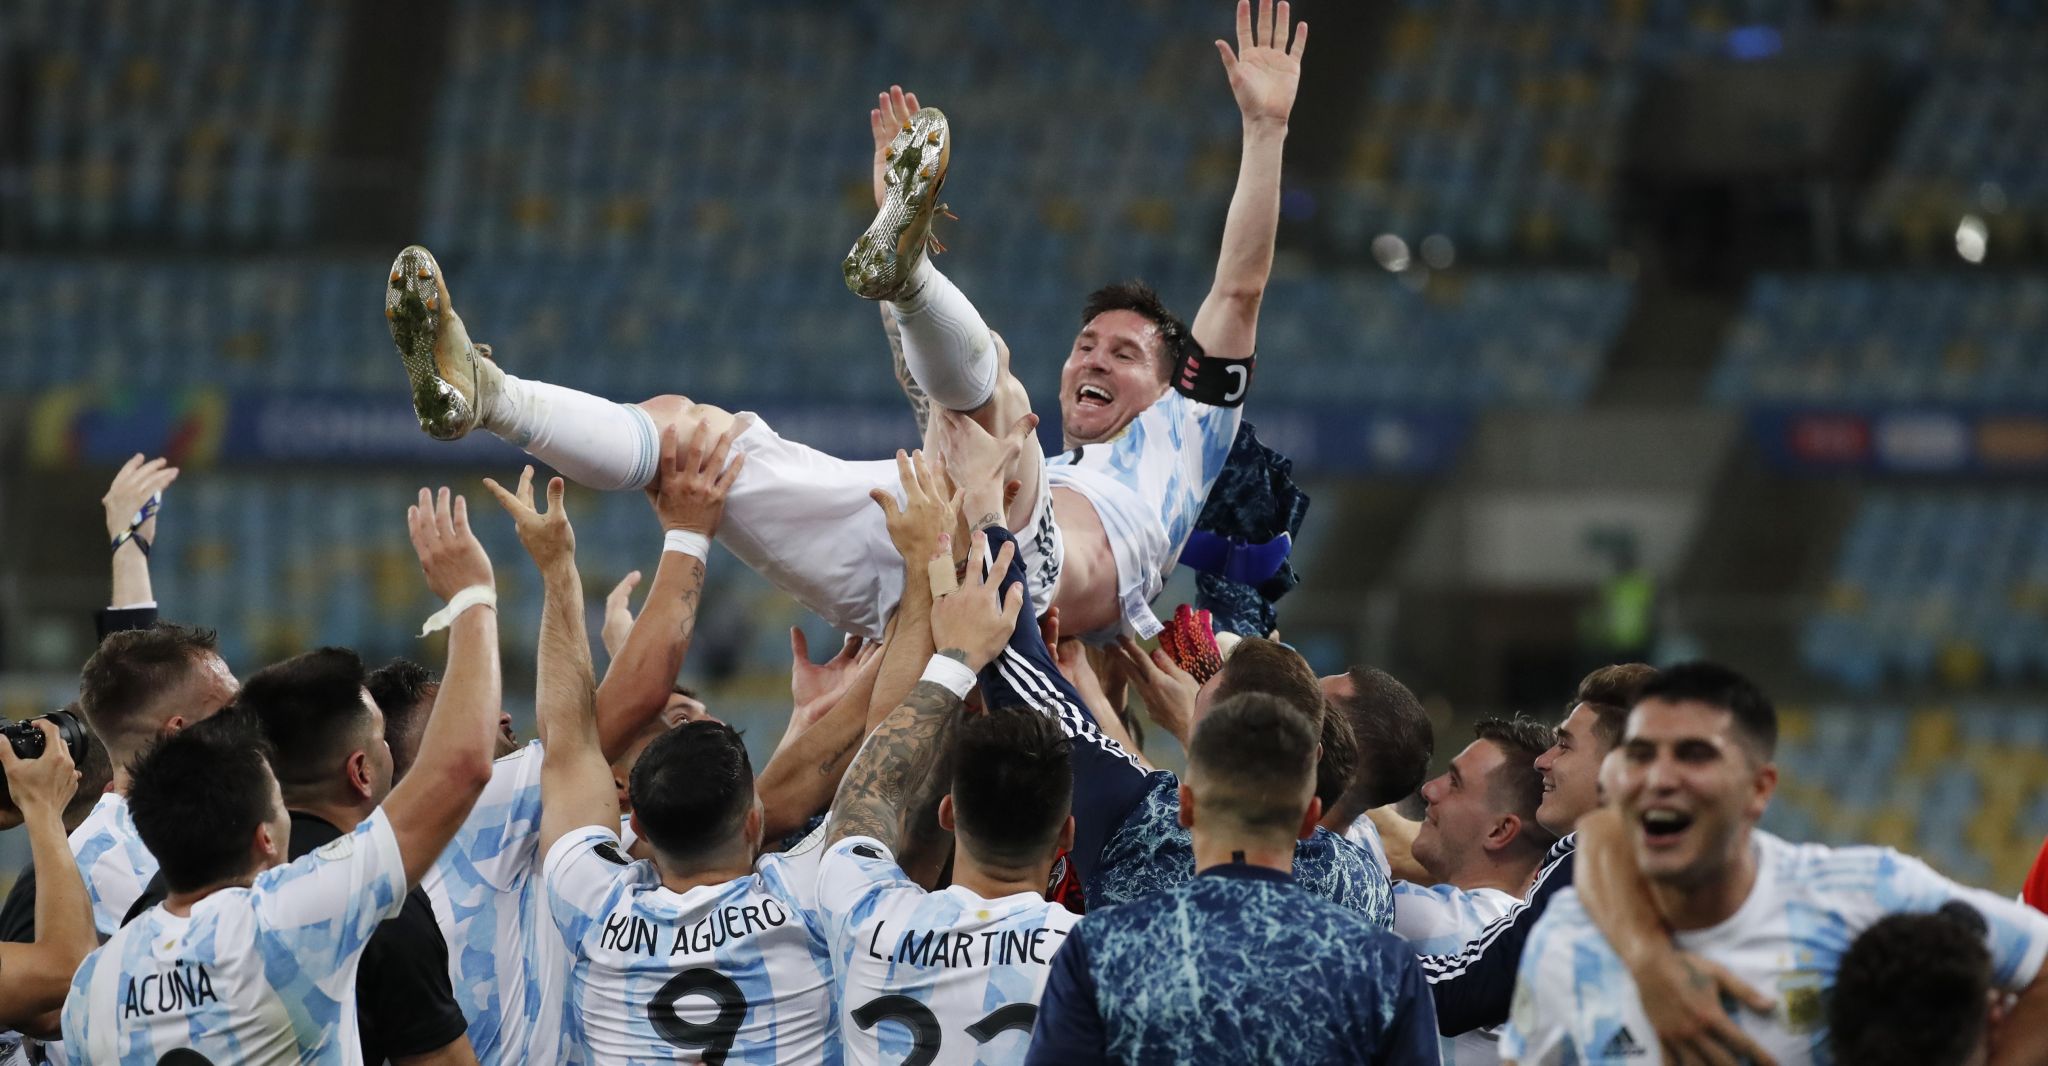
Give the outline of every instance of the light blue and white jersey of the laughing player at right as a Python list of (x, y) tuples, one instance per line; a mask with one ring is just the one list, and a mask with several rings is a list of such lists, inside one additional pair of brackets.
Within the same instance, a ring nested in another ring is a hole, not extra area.
[[(1780, 1066), (1829, 1066), (1827, 996), (1849, 943), (1884, 915), (1976, 908), (1989, 927), (1993, 980), (2019, 990), (2048, 956), (2048, 915), (2005, 896), (1956, 884), (1888, 847), (1792, 845), (1755, 833), (1757, 884), (1737, 913), (1710, 929), (1677, 933), (1677, 945), (1729, 968), (1778, 1001), (1765, 1017), (1735, 1021)], [(1538, 1064), (1640, 1064), (1657, 1054), (1636, 986), (1571, 888), (1556, 894), (1530, 933), (1516, 978), (1501, 1058)]]

